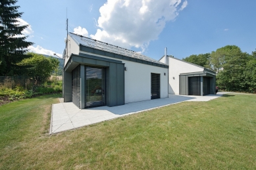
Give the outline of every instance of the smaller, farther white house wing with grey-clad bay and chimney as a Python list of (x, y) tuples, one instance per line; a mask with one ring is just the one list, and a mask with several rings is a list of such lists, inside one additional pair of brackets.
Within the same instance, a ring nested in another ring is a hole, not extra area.
[(169, 94), (215, 95), (216, 72), (166, 54), (159, 61), (169, 66)]

